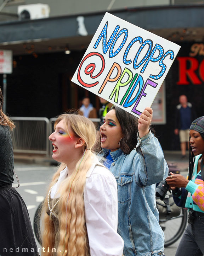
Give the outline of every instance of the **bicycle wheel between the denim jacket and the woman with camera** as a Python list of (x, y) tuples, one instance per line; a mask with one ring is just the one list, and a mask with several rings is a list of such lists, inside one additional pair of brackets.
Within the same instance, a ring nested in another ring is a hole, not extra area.
[(159, 224), (165, 235), (165, 247), (174, 244), (183, 234), (188, 220), (188, 211), (181, 208), (178, 217), (160, 219)]

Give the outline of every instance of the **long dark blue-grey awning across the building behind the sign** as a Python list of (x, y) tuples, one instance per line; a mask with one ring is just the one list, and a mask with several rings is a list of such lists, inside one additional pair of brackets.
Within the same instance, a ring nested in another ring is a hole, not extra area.
[[(172, 34), (181, 34), (185, 29), (185, 40), (202, 40), (204, 36), (204, 5), (140, 7), (136, 9), (117, 10), (111, 12), (138, 27), (151, 31), (164, 38)], [(105, 12), (73, 16), (50, 17), (38, 20), (12, 21), (0, 23), (0, 47), (12, 49), (12, 45), (23, 42), (38, 42), (40, 39), (58, 44), (65, 41), (77, 49), (77, 41), (88, 45), (97, 30)], [(78, 17), (84, 17), (87, 36), (78, 32)], [(80, 40), (79, 40), (80, 37)], [(38, 40), (39, 39), (39, 40)], [(64, 40), (64, 41), (63, 41)], [(174, 41), (178, 41), (174, 38)], [(69, 42), (70, 41), (70, 42)], [(40, 43), (40, 42), (39, 42)]]

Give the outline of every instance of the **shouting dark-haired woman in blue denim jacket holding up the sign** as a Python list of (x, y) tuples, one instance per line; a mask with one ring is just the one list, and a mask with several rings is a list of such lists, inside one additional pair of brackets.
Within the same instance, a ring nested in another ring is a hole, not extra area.
[(164, 255), (155, 183), (167, 176), (168, 166), (149, 129), (151, 121), (152, 108), (145, 108), (138, 119), (113, 106), (100, 127), (104, 164), (118, 184), (118, 233), (124, 256)]

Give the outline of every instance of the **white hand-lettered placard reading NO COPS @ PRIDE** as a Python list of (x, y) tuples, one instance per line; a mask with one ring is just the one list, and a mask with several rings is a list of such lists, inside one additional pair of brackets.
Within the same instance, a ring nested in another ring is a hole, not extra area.
[(152, 105), (179, 49), (106, 13), (72, 81), (139, 116)]

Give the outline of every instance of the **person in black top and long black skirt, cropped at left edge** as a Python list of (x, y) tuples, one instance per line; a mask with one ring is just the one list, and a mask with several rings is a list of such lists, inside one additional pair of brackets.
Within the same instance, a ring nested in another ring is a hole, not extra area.
[(2, 106), (0, 89), (0, 255), (39, 256), (26, 204), (12, 187), (13, 147), (9, 129), (15, 125), (3, 113)]

